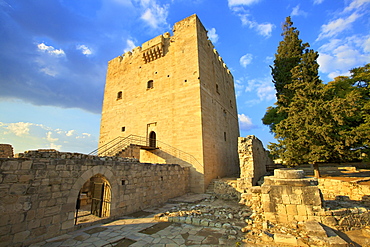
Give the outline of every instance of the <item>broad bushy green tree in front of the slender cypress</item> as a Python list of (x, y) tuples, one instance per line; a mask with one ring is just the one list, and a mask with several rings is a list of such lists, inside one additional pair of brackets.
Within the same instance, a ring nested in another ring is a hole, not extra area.
[(276, 125), (278, 144), (269, 148), (288, 165), (343, 162), (369, 154), (369, 65), (351, 70), (327, 85), (318, 77), (318, 54), (307, 50), (292, 70), (295, 92), (282, 107), (287, 118)]

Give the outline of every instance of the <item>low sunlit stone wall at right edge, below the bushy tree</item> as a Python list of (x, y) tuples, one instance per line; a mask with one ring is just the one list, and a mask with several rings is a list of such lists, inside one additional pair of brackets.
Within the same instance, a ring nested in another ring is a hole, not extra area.
[[(338, 196), (347, 197), (348, 200), (363, 201), (370, 206), (370, 185), (361, 184), (364, 179), (354, 181), (341, 181), (337, 179), (319, 178), (319, 189), (324, 200), (335, 200)], [(368, 182), (369, 179), (366, 180)]]

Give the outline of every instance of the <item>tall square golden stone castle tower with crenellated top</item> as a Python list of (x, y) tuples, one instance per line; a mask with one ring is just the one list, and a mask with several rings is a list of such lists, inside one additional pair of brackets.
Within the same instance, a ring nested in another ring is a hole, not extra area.
[(193, 192), (238, 174), (233, 76), (196, 15), (109, 61), (99, 148), (119, 136), (121, 156), (189, 166)]

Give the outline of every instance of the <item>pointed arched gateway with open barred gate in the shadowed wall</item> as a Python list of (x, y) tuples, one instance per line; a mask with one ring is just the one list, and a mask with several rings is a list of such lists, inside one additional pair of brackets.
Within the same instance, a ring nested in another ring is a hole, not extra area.
[(75, 224), (109, 217), (111, 200), (109, 181), (101, 174), (94, 175), (84, 183), (78, 194)]

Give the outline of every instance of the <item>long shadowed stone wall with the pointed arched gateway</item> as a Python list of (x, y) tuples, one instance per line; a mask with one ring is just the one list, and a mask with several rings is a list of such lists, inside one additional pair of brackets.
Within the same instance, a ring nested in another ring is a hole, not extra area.
[(30, 152), (0, 159), (0, 246), (26, 246), (74, 226), (79, 190), (101, 174), (111, 185), (110, 217), (164, 203), (188, 192), (189, 171), (135, 159)]

